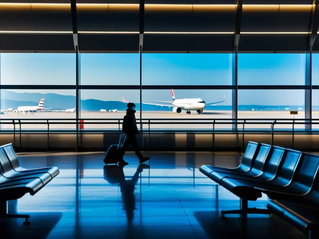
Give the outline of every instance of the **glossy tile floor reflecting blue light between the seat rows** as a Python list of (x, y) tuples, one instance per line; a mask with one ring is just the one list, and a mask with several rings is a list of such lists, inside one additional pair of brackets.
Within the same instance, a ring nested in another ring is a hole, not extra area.
[[(307, 238), (275, 215), (249, 215), (242, 234), (239, 198), (205, 177), (203, 164), (236, 167), (236, 153), (145, 153), (148, 166), (127, 153), (122, 169), (103, 167), (102, 153), (20, 154), (25, 168), (57, 166), (60, 174), (36, 195), (8, 202), (0, 238)], [(249, 206), (265, 208), (267, 197)]]

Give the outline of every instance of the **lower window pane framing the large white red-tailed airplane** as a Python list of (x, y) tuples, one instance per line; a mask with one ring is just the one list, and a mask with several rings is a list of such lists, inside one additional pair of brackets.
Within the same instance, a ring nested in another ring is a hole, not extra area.
[[(170, 90), (142, 91), (142, 100), (144, 102), (142, 105), (142, 119), (143, 122), (150, 121), (151, 130), (159, 128), (212, 129), (213, 120), (216, 120), (216, 122), (231, 122), (230, 120), (223, 120), (232, 118), (231, 90), (175, 90), (174, 98), (175, 106), (172, 103), (173, 96)], [(198, 103), (201, 101), (206, 103)], [(219, 101), (224, 102), (216, 103)], [(211, 103), (216, 104), (208, 105)], [(180, 112), (181, 109), (185, 110)], [(197, 110), (201, 109), (203, 109), (202, 114), (198, 114)], [(188, 110), (190, 110), (190, 114), (186, 113)], [(156, 122), (159, 123), (156, 124)], [(143, 128), (148, 130), (148, 125), (143, 125)], [(215, 128), (231, 128), (231, 124), (216, 124)]]

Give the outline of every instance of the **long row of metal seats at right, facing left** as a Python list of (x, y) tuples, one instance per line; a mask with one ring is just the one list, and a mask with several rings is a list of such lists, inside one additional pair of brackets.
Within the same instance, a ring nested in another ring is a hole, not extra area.
[[(204, 175), (234, 193), (240, 210), (225, 214), (275, 214), (309, 238), (319, 238), (319, 155), (249, 141), (239, 167), (203, 165)], [(267, 209), (249, 208), (248, 201), (268, 196)]]

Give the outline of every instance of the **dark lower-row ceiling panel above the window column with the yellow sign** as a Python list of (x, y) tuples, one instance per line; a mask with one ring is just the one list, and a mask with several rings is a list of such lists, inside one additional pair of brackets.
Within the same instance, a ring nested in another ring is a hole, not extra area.
[(281, 35), (281, 34), (241, 34), (238, 51), (281, 52), (306, 51), (308, 35)]

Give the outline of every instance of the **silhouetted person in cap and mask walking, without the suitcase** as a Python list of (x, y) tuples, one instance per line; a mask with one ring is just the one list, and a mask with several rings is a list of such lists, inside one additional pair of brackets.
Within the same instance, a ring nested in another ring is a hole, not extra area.
[(123, 118), (123, 125), (122, 125), (122, 133), (126, 134), (123, 147), (122, 147), (122, 157), (119, 160), (119, 165), (127, 165), (129, 163), (125, 162), (123, 159), (123, 156), (125, 154), (125, 151), (131, 144), (133, 146), (133, 149), (139, 158), (139, 163), (144, 163), (150, 158), (143, 157), (141, 152), (138, 150), (138, 143), (136, 139), (136, 134), (138, 134), (138, 129), (136, 125), (136, 118), (135, 118), (135, 104), (134, 103), (128, 103), (127, 109), (126, 109), (126, 115)]

